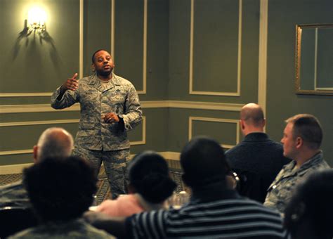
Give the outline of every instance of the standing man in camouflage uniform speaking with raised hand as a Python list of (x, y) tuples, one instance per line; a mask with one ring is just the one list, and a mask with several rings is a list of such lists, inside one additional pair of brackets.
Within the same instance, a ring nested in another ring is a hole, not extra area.
[(126, 192), (130, 146), (126, 132), (140, 124), (142, 110), (133, 84), (112, 73), (115, 64), (110, 53), (98, 50), (91, 60), (96, 74), (80, 80), (74, 74), (53, 93), (51, 106), (63, 109), (80, 103), (74, 155), (89, 160), (96, 174), (103, 162), (112, 198), (117, 198)]

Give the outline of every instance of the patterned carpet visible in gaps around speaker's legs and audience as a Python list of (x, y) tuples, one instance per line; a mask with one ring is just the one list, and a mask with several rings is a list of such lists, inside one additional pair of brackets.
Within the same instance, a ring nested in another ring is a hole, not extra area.
[[(185, 186), (183, 181), (181, 180), (181, 170), (170, 168), (171, 178), (177, 183), (176, 193), (179, 193), (182, 190), (185, 190)], [(3, 174), (0, 175), (0, 186), (6, 185), (8, 183), (13, 183), (22, 179), (22, 174)], [(101, 167), (100, 174), (98, 174), (98, 182), (97, 182), (97, 193), (96, 193), (96, 205), (99, 205), (103, 200), (111, 198), (111, 190), (109, 183), (107, 181), (106, 174), (104, 172), (104, 168)]]

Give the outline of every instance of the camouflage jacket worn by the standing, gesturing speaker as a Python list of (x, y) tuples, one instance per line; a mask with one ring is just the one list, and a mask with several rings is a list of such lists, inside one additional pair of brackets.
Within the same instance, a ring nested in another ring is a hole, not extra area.
[[(96, 75), (79, 79), (75, 91), (66, 91), (60, 101), (57, 100), (60, 87), (51, 97), (51, 106), (55, 109), (70, 107), (79, 102), (81, 119), (75, 146), (89, 150), (122, 150), (129, 148), (126, 131), (140, 124), (142, 110), (138, 93), (128, 80), (112, 74), (112, 79), (102, 86)], [(115, 112), (124, 120), (122, 124), (106, 124), (102, 117), (108, 112)]]

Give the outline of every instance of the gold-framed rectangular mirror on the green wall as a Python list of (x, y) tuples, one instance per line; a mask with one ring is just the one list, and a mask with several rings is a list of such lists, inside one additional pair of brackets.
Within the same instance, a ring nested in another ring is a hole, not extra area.
[(296, 25), (297, 94), (333, 95), (333, 23)]

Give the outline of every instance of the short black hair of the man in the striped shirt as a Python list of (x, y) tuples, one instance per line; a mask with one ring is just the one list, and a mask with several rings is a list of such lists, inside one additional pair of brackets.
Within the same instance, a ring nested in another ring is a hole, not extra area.
[(221, 145), (213, 138), (197, 136), (181, 152), (183, 179), (188, 186), (202, 186), (209, 181), (225, 181), (230, 167)]

